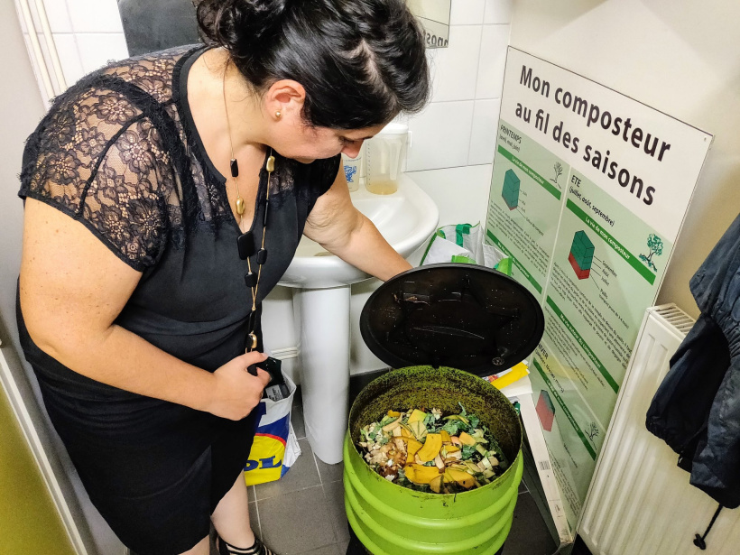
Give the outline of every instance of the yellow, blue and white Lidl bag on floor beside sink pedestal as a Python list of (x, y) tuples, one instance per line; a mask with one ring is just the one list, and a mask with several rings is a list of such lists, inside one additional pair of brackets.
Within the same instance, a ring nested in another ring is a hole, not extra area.
[(257, 405), (257, 431), (245, 465), (247, 486), (273, 482), (284, 476), (301, 455), (291, 426), (291, 407), (295, 384), (283, 374), (288, 396), (280, 401), (263, 399)]

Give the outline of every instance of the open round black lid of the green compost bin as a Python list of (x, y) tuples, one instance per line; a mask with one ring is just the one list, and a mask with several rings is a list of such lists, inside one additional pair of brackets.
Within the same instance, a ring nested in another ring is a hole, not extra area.
[(385, 282), (365, 303), (365, 344), (393, 368), (450, 366), (492, 375), (532, 354), (544, 315), (531, 292), (474, 264), (430, 264)]

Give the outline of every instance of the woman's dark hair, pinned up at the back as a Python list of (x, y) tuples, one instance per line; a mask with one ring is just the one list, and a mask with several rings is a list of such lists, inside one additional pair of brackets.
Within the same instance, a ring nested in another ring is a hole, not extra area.
[(254, 90), (306, 89), (303, 117), (335, 129), (382, 125), (430, 95), (419, 24), (402, 0), (199, 0), (208, 44), (222, 46)]

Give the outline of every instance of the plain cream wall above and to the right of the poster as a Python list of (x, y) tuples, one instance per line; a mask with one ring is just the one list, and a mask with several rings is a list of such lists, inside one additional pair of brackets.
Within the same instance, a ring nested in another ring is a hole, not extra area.
[(698, 315), (689, 279), (740, 210), (740, 3), (517, 0), (511, 43), (715, 135), (662, 302)]

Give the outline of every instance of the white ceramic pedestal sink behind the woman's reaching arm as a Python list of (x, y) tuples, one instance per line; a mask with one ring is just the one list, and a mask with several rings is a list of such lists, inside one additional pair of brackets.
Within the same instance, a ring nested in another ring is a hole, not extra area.
[[(361, 188), (356, 208), (369, 217), (393, 248), (408, 258), (437, 229), (439, 209), (407, 175), (392, 195)], [(328, 464), (342, 460), (349, 393), (349, 300), (352, 283), (370, 276), (303, 237), (280, 284), (294, 287), (301, 323), (301, 391), (306, 437)]]

